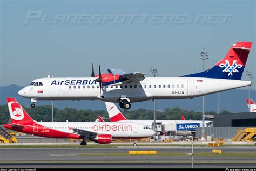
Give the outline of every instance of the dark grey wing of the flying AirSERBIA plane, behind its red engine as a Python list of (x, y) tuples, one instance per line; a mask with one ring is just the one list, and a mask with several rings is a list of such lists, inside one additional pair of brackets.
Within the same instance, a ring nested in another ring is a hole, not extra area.
[(134, 72), (134, 73), (119, 75), (119, 79), (123, 83), (130, 83), (130, 82), (138, 83), (139, 81), (142, 81), (145, 79), (144, 75), (146, 74)]

